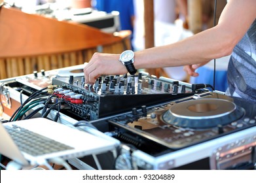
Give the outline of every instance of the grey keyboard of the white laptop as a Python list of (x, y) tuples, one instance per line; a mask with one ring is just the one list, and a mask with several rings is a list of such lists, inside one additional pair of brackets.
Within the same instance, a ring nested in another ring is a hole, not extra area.
[(70, 146), (19, 127), (18, 125), (5, 125), (5, 129), (7, 129), (18, 148), (32, 156), (41, 156), (52, 152), (73, 149)]

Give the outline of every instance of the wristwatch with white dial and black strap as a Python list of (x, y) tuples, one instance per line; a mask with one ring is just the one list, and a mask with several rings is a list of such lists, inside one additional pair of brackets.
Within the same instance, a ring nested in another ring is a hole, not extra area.
[(124, 64), (130, 75), (135, 75), (137, 70), (134, 67), (134, 52), (132, 50), (126, 50), (120, 54), (119, 60)]

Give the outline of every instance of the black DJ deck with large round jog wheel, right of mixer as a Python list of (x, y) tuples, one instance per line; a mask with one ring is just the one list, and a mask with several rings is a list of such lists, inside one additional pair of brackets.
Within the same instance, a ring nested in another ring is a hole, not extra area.
[(246, 129), (255, 125), (255, 120), (256, 106), (252, 103), (210, 93), (200, 99), (134, 108), (108, 122), (121, 139), (127, 139), (127, 133), (136, 133), (142, 139), (176, 150)]

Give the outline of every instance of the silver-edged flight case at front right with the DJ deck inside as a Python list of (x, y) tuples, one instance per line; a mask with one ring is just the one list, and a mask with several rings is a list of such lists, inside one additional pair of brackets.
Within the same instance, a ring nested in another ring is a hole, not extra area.
[(256, 105), (244, 99), (206, 92), (91, 124), (124, 144), (117, 169), (255, 169)]

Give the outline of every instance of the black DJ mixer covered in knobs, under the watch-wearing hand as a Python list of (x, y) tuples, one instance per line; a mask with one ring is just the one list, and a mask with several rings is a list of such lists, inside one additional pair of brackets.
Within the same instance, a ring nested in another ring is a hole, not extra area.
[(84, 120), (126, 112), (131, 108), (150, 106), (188, 97), (192, 85), (170, 78), (151, 76), (141, 72), (136, 76), (100, 76), (93, 85), (85, 84), (83, 76), (53, 78), (52, 84), (74, 92), (75, 100), (68, 103), (69, 112)]

